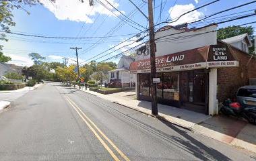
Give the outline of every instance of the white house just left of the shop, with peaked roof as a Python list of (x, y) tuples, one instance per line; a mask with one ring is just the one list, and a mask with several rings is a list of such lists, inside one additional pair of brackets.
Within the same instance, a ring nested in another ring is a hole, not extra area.
[[(113, 87), (133, 87), (135, 85), (135, 74), (129, 72), (129, 66), (131, 62), (134, 62), (134, 58), (131, 56), (121, 56), (118, 68), (108, 71), (108, 83)], [(114, 85), (115, 84), (115, 85)]]

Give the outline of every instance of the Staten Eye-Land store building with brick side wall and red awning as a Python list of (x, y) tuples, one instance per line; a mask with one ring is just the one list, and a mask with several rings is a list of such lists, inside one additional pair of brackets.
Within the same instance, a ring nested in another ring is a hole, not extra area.
[[(248, 85), (249, 78), (256, 78), (255, 58), (250, 60), (247, 52), (217, 41), (216, 28), (167, 26), (156, 32), (158, 103), (215, 115), (218, 101), (232, 97), (238, 87)], [(129, 70), (137, 76), (137, 99), (150, 101), (150, 54), (137, 55)]]

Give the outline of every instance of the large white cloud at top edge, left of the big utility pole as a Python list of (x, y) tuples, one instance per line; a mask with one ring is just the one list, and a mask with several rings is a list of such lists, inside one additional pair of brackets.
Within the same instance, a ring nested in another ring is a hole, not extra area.
[[(108, 9), (104, 8), (99, 3), (94, 3), (94, 6), (90, 6), (88, 1), (84, 1), (82, 3), (79, 0), (56, 0), (55, 3), (51, 3), (49, 0), (40, 0), (40, 2), (49, 9), (49, 11), (53, 12), (55, 17), (60, 20), (70, 20), (70, 21), (85, 21), (86, 23), (93, 23), (94, 19), (92, 15), (96, 13), (115, 16), (119, 15), (118, 11), (109, 5), (106, 1), (101, 1), (106, 5), (110, 10), (112, 10), (115, 14), (110, 12)], [(119, 7), (119, 3), (116, 3), (115, 0), (108, 0), (116, 8)], [(125, 13), (124, 11), (121, 11)]]

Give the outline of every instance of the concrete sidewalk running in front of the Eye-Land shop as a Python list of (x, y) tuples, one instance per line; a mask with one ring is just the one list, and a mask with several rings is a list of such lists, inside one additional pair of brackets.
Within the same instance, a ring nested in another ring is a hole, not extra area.
[[(125, 91), (110, 95), (85, 90), (84, 87), (82, 87), (81, 91), (152, 115), (151, 103), (135, 99), (135, 91)], [(195, 133), (256, 153), (256, 126), (241, 119), (225, 116), (211, 117), (202, 113), (161, 104), (158, 104), (158, 115), (170, 123)]]

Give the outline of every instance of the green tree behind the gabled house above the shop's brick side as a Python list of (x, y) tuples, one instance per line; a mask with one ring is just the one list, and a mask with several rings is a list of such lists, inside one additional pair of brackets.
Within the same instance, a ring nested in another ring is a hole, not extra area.
[[(248, 34), (249, 38), (253, 40), (253, 27), (252, 26), (236, 26), (236, 25), (230, 25), (226, 28), (220, 28), (217, 32), (217, 38), (219, 40), (223, 40), (226, 38), (230, 38), (233, 36), (238, 36), (241, 34)], [(253, 44), (254, 45), (254, 44)], [(254, 50), (254, 47), (249, 48), (249, 54), (252, 54)]]

